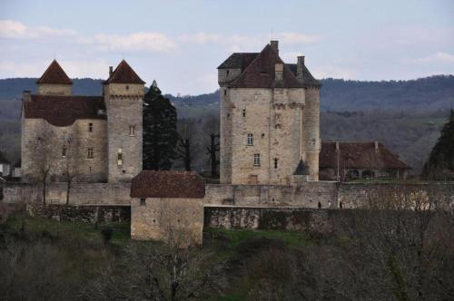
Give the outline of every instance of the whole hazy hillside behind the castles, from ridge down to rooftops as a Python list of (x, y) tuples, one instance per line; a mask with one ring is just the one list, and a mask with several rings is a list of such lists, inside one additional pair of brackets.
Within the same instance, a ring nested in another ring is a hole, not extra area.
[[(0, 80), (0, 150), (18, 159), (21, 94), (35, 92), (35, 78)], [(102, 80), (74, 79), (74, 94), (102, 92)], [(437, 75), (413, 81), (360, 82), (321, 80), (322, 140), (380, 140), (420, 170), (454, 108), (454, 76)], [(180, 119), (199, 121), (219, 114), (219, 90), (194, 96), (167, 94)], [(201, 122), (198, 122), (201, 123)], [(200, 129), (200, 131), (203, 131)], [(202, 168), (197, 163), (197, 168)]]

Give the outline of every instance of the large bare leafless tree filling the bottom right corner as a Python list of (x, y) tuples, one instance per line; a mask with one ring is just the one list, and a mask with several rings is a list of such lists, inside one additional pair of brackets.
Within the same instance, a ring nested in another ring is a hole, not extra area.
[(348, 239), (321, 278), (350, 299), (454, 297), (454, 215), (448, 187), (381, 185), (335, 227)]

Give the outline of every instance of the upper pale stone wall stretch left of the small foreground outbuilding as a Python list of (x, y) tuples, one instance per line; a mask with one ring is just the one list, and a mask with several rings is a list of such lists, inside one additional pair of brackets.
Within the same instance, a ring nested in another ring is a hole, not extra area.
[[(131, 184), (74, 183), (70, 190), (71, 205), (130, 205)], [(42, 184), (6, 183), (3, 189), (5, 203), (42, 203)], [(66, 183), (49, 183), (48, 204), (66, 203)]]

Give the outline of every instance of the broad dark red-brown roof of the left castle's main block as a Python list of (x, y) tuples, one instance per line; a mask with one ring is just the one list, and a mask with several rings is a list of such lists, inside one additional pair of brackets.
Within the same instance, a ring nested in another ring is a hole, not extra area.
[(79, 119), (106, 119), (102, 96), (32, 95), (24, 102), (25, 118), (44, 119), (55, 126), (68, 126)]

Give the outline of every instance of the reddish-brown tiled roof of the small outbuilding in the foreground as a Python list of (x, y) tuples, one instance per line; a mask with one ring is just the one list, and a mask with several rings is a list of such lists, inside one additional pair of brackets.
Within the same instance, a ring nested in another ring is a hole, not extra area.
[(203, 199), (204, 196), (204, 180), (194, 171), (143, 170), (131, 184), (131, 198)]

